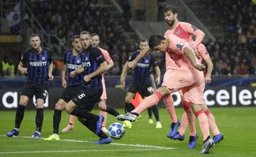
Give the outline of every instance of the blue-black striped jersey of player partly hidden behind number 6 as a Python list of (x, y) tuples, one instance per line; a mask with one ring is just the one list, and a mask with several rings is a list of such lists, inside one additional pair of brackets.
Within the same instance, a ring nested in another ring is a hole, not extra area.
[(68, 51), (65, 52), (63, 56), (63, 62), (64, 64), (67, 65), (67, 74), (68, 74), (68, 79), (67, 79), (67, 85), (69, 86), (74, 86), (74, 85), (80, 85), (83, 81), (83, 75), (75, 75), (75, 77), (70, 77), (70, 72), (76, 70), (81, 64), (82, 64), (82, 57), (80, 54), (77, 54), (74, 56), (72, 53), (73, 49), (69, 49)]

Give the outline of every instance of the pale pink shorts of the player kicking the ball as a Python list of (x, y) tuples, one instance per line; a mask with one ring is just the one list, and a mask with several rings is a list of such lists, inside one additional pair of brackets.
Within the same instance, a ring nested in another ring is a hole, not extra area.
[(162, 86), (168, 87), (171, 93), (182, 90), (179, 93), (184, 95), (185, 101), (202, 104), (205, 87), (203, 81), (203, 72), (192, 67), (182, 67), (177, 70), (167, 70)]

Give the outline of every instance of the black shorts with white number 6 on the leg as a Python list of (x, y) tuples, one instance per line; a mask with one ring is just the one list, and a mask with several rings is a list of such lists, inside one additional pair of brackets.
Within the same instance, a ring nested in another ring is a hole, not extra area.
[(76, 95), (72, 101), (77, 105), (78, 108), (92, 111), (94, 104), (101, 101), (100, 96), (102, 95), (102, 89), (96, 90), (93, 88), (82, 87), (83, 90)]

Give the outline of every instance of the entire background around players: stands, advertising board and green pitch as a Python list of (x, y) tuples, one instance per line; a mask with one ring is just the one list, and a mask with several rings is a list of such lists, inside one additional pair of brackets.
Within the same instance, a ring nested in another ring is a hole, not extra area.
[[(93, 145), (98, 137), (75, 122), (61, 140), (45, 142), (52, 134), (53, 108), (61, 88), (61, 59), (70, 49), (70, 37), (81, 30), (98, 33), (101, 47), (108, 49), (114, 68), (105, 76), (107, 103), (123, 112), (125, 91), (119, 88), (119, 75), (127, 57), (138, 49), (141, 38), (163, 34), (168, 28), (161, 9), (166, 4), (179, 7), (179, 20), (192, 23), (203, 32), (214, 64), (212, 82), (207, 85), (207, 104), (223, 132), (223, 142), (208, 156), (256, 156), (256, 1), (253, 0), (0, 0), (0, 156), (202, 156), (202, 134), (198, 130), (197, 147), (187, 149), (184, 142), (166, 138), (169, 115), (160, 107), (162, 129), (148, 124), (147, 112), (126, 129), (126, 135), (109, 145)], [(54, 81), (51, 83), (45, 119), (39, 140), (30, 138), (35, 129), (35, 107), (30, 101), (17, 138), (6, 133), (13, 128), (15, 108), (25, 77), (16, 71), (21, 54), (29, 48), (28, 36), (38, 33), (42, 45), (54, 52)], [(164, 74), (164, 57), (155, 54)], [(127, 78), (127, 84), (130, 76)], [(179, 105), (177, 96), (175, 104)], [(216, 107), (216, 108), (215, 108)], [(217, 108), (218, 107), (218, 108)], [(181, 118), (183, 109), (176, 108)], [(93, 110), (98, 114), (98, 109)], [(155, 119), (153, 119), (155, 121)], [(69, 114), (62, 112), (60, 129), (66, 127)], [(117, 122), (108, 116), (107, 125)]]

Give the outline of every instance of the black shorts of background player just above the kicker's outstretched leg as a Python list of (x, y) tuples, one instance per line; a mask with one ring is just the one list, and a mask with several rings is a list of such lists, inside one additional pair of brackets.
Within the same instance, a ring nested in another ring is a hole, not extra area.
[(142, 95), (142, 98), (153, 94), (153, 88), (150, 83), (148, 83), (147, 85), (139, 85), (137, 83), (132, 82), (130, 83), (127, 91), (130, 93), (136, 93), (138, 91), (140, 95)]

